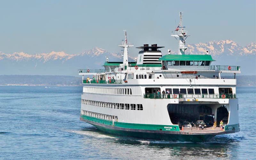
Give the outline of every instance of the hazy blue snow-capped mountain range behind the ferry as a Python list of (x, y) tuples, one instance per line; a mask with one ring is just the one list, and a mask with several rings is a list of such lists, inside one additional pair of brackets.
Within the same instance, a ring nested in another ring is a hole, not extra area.
[[(186, 53), (205, 54), (206, 50), (216, 60), (212, 65), (241, 66), (243, 75), (256, 75), (255, 43), (240, 46), (232, 40), (221, 40), (188, 44)], [(162, 52), (165, 53), (164, 50)], [(111, 61), (122, 61), (120, 53), (111, 53), (98, 47), (79, 54), (50, 52), (31, 55), (24, 52), (13, 54), (0, 52), (0, 67), (2, 68), (0, 75), (76, 76), (77, 69), (102, 68), (106, 58)], [(134, 58), (129, 57), (129, 61), (134, 61)]]

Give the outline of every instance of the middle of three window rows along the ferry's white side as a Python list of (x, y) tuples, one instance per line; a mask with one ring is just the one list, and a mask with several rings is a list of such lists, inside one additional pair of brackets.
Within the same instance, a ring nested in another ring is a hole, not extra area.
[(127, 104), (127, 103), (111, 103), (111, 102), (102, 102), (96, 100), (85, 100), (82, 99), (82, 104), (96, 106), (96, 107), (105, 107), (105, 108), (114, 108), (114, 109), (126, 109), (126, 110), (143, 110), (142, 104)]

